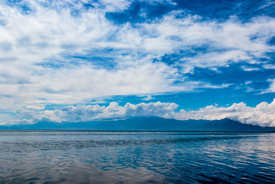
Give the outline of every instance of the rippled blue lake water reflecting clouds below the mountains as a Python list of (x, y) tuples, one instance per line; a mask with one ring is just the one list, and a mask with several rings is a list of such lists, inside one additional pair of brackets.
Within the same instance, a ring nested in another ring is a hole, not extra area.
[(0, 183), (274, 183), (275, 134), (0, 132)]

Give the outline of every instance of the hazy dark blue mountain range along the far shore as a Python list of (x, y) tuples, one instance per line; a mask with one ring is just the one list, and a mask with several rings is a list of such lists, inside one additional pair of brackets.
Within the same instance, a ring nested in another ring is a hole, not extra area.
[(0, 127), (12, 130), (150, 130), (150, 131), (220, 131), (220, 132), (272, 132), (275, 127), (260, 127), (233, 121), (163, 119), (160, 117), (134, 117), (116, 121), (90, 121), (78, 123), (39, 122), (34, 125), (12, 125)]

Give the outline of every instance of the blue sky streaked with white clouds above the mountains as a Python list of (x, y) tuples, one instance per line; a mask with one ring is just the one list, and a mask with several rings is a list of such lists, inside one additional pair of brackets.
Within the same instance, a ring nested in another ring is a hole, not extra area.
[(275, 1), (0, 0), (0, 125), (275, 126)]

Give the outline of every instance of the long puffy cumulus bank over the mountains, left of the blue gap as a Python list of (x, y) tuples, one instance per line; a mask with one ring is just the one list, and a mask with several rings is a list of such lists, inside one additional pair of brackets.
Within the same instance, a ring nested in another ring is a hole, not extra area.
[(133, 105), (126, 103), (121, 106), (112, 102), (109, 106), (100, 105), (76, 105), (58, 108), (56, 110), (36, 110), (34, 108), (20, 108), (17, 110), (17, 118), (21, 122), (35, 123), (38, 121), (54, 122), (78, 122), (93, 121), (99, 119), (114, 119), (129, 116), (162, 116), (170, 117), (178, 105), (175, 103), (139, 103)]

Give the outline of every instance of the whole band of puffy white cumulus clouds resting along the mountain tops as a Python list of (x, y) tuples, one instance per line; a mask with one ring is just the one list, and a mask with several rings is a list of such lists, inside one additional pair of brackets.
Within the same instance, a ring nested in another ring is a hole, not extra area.
[(109, 106), (76, 105), (58, 108), (56, 110), (35, 110), (34, 108), (21, 108), (17, 110), (17, 118), (21, 122), (36, 123), (38, 121), (96, 121), (102, 119), (118, 119), (130, 116), (159, 116), (167, 119), (206, 119), (216, 120), (229, 118), (260, 126), (275, 127), (275, 99), (272, 103), (262, 102), (252, 108), (245, 103), (234, 103), (230, 107), (209, 105), (199, 110), (179, 110), (176, 103), (139, 103), (121, 106), (112, 102)]

